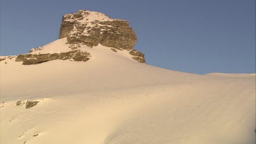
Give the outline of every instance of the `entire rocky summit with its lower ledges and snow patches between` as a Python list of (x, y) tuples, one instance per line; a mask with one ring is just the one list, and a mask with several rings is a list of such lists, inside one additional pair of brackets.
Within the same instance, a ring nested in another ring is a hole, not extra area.
[(22, 61), (23, 65), (34, 65), (56, 59), (88, 61), (94, 55), (91, 55), (85, 47), (94, 48), (100, 44), (115, 53), (126, 51), (135, 61), (145, 63), (143, 53), (133, 48), (137, 37), (128, 21), (109, 18), (100, 12), (79, 10), (74, 14), (64, 14), (59, 40), (55, 42), (57, 44), (55, 46), (50, 43), (31, 48), (27, 54), (0, 57), (0, 61), (5, 61), (6, 64), (8, 63), (6, 60), (15, 59)]

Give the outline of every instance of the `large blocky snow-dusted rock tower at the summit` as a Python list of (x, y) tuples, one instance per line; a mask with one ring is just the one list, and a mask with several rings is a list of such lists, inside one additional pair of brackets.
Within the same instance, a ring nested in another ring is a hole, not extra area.
[(62, 18), (59, 38), (68, 38), (70, 44), (132, 49), (136, 35), (126, 20), (116, 20), (100, 12), (80, 10)]

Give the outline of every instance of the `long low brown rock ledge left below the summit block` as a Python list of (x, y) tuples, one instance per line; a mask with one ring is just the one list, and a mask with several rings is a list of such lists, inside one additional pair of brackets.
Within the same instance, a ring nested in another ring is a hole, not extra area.
[(83, 51), (68, 51), (66, 53), (44, 53), (44, 54), (25, 54), (18, 55), (15, 61), (23, 61), (23, 65), (33, 65), (52, 61), (55, 59), (70, 59), (72, 61), (88, 61), (90, 54)]

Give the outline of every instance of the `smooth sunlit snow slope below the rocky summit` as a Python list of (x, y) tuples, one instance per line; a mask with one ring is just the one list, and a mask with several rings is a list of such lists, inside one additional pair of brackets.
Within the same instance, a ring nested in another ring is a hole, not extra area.
[(0, 61), (0, 143), (255, 143), (255, 74), (188, 74), (81, 49), (89, 61)]

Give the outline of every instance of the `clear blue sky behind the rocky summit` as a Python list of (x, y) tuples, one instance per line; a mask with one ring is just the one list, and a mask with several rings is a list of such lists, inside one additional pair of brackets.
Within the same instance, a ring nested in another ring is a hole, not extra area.
[(148, 64), (205, 74), (255, 73), (255, 0), (1, 0), (0, 55), (27, 53), (59, 35), (78, 10), (126, 19)]

